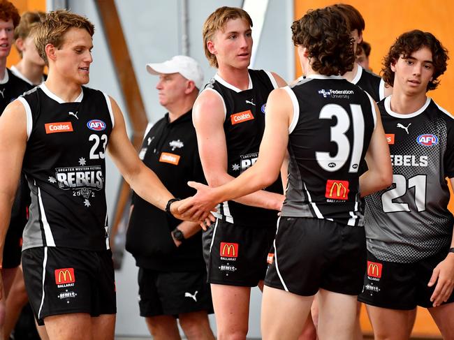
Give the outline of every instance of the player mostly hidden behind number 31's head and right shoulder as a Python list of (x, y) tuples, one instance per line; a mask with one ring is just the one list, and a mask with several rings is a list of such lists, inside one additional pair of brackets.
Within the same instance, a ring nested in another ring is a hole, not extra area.
[[(356, 8), (345, 3), (337, 3), (332, 5), (332, 8), (339, 10), (344, 15), (347, 24), (349, 24), (351, 36), (354, 39), (353, 47), (355, 54), (357, 54), (358, 44), (363, 41), (363, 31), (365, 29), (363, 15)], [(353, 63), (353, 69), (342, 76), (366, 91), (376, 102), (393, 93), (393, 87), (386, 86), (379, 75), (365, 70), (356, 62)]]

